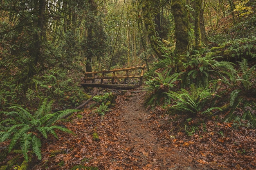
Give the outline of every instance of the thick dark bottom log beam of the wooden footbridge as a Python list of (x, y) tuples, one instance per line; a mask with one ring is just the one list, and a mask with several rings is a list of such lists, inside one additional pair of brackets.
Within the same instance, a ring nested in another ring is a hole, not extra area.
[(81, 84), (83, 87), (101, 87), (107, 89), (135, 89), (140, 87), (141, 85), (124, 85), (124, 84), (98, 84), (98, 83), (83, 83)]

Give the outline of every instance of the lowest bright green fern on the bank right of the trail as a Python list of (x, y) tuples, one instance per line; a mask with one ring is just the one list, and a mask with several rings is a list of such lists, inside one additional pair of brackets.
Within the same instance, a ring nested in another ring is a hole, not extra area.
[(179, 92), (168, 92), (166, 94), (173, 98), (175, 102), (175, 105), (171, 106), (170, 109), (190, 113), (193, 117), (198, 113), (209, 113), (214, 109), (221, 111), (219, 107), (211, 107), (216, 97), (220, 96), (210, 92), (209, 89), (196, 88), (193, 84), (189, 91), (180, 89)]

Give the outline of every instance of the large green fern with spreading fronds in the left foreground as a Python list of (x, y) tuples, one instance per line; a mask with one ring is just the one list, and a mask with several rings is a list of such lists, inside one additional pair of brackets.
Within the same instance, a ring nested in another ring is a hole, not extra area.
[[(58, 138), (55, 129), (72, 133), (72, 131), (56, 126), (54, 123), (63, 118), (63, 116), (73, 113), (78, 110), (67, 109), (51, 113), (53, 101), (43, 103), (35, 111), (34, 114), (19, 106), (12, 106), (10, 112), (0, 112), (7, 118), (0, 122), (0, 142), (11, 139), (9, 144), (9, 152), (19, 145), (25, 160), (29, 159), (28, 152), (32, 151), (39, 160), (41, 160), (41, 137), (47, 139), (48, 134)], [(18, 144), (19, 142), (19, 144)]]

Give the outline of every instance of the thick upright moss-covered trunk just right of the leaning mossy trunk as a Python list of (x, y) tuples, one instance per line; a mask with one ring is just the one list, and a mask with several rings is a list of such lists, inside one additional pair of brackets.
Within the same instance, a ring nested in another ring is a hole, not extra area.
[(189, 17), (186, 11), (186, 0), (172, 0), (171, 9), (175, 21), (176, 46), (178, 57), (177, 71), (184, 70), (183, 62), (187, 63), (186, 52), (189, 51), (191, 38), (189, 37)]

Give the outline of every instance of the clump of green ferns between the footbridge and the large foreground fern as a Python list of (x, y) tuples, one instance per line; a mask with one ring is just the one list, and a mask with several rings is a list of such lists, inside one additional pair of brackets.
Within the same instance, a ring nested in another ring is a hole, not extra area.
[(31, 101), (38, 101), (42, 98), (54, 99), (63, 105), (76, 107), (88, 96), (73, 83), (70, 75), (64, 70), (49, 70), (45, 74), (34, 76), (31, 88), (27, 90), (26, 98)]

